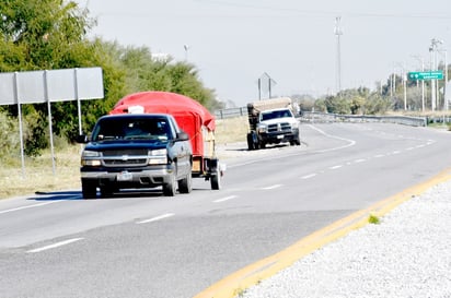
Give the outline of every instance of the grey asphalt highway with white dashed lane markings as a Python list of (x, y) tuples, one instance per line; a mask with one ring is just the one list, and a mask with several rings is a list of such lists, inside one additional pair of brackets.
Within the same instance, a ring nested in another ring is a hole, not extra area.
[(80, 190), (0, 201), (2, 298), (194, 297), (451, 165), (451, 132), (302, 124), (301, 146), (229, 145), (223, 188), (82, 200)]

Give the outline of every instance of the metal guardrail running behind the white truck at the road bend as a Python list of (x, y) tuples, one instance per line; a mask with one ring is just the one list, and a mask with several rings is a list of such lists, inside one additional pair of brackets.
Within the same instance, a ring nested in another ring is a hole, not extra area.
[[(221, 109), (215, 112), (216, 119), (227, 119), (247, 116), (246, 107)], [(304, 111), (299, 117), (301, 122), (383, 122), (397, 123), (413, 127), (427, 127), (428, 121), (436, 122), (437, 119), (428, 117), (410, 116), (373, 116), (373, 115), (338, 115), (327, 112)], [(447, 118), (448, 119), (448, 118)], [(441, 119), (439, 119), (441, 120)]]

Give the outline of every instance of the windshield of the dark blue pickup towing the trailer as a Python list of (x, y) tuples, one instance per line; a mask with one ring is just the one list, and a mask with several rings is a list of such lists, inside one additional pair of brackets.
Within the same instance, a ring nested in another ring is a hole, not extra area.
[(94, 128), (92, 141), (114, 141), (114, 140), (159, 140), (167, 141), (173, 139), (164, 118), (126, 118), (126, 119), (104, 119)]

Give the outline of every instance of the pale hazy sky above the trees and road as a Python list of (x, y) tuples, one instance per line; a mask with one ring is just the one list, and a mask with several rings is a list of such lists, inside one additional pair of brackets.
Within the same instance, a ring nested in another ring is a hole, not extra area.
[[(437, 59), (450, 60), (449, 0), (76, 2), (97, 20), (90, 36), (186, 60), (219, 100), (235, 106), (269, 95), (375, 90), (391, 73), (421, 70), (421, 61), (429, 70), (432, 39), (440, 40)], [(270, 94), (268, 84), (258, 88), (263, 78), (271, 79)]]

